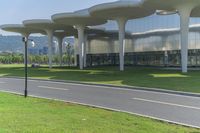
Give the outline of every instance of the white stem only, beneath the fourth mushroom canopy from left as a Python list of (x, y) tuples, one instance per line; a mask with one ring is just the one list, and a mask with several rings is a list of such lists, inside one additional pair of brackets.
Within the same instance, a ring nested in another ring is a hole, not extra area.
[(125, 27), (127, 20), (124, 18), (117, 19), (119, 27), (119, 59), (120, 71), (124, 71), (124, 52), (125, 52)]

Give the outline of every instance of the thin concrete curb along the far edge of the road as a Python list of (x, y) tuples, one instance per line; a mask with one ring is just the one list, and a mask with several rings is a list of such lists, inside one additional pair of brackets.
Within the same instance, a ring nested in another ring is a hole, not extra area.
[[(15, 76), (5, 76), (5, 77), (0, 77), (0, 78), (24, 79), (22, 77), (15, 77)], [(103, 86), (103, 87), (115, 87), (115, 88), (120, 88), (120, 89), (130, 89), (130, 90), (134, 89), (134, 90), (143, 90), (143, 91), (150, 91), (150, 92), (159, 92), (159, 93), (168, 93), (168, 94), (176, 94), (176, 95), (183, 95), (183, 96), (200, 97), (200, 93), (164, 90), (161, 88), (149, 88), (149, 87), (139, 87), (139, 86), (117, 86), (117, 85), (110, 85), (110, 84), (87, 83), (87, 82), (78, 82), (78, 81), (70, 81), (70, 80), (51, 80), (51, 79), (37, 79), (37, 78), (29, 78), (29, 80), (52, 81), (52, 82), (61, 82), (61, 83), (83, 84), (83, 85), (95, 85), (95, 86)]]

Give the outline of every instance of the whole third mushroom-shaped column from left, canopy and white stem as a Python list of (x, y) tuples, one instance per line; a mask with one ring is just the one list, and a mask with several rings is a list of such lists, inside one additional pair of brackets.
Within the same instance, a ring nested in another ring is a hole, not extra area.
[(87, 9), (72, 13), (60, 13), (52, 16), (52, 20), (56, 23), (75, 26), (78, 30), (78, 45), (79, 45), (79, 66), (83, 69), (84, 66), (84, 36), (86, 26), (94, 26), (105, 23), (102, 19), (92, 18)]

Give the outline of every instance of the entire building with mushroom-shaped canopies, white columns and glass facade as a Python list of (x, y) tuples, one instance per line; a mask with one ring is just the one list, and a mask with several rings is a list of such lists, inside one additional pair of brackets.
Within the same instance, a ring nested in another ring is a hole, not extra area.
[[(190, 18), (195, 17), (195, 19)], [(183, 73), (199, 63), (200, 0), (119, 0), (88, 9), (31, 19), (3, 30), (48, 36), (49, 67), (53, 37), (75, 37), (80, 69), (94, 65), (181, 66)]]

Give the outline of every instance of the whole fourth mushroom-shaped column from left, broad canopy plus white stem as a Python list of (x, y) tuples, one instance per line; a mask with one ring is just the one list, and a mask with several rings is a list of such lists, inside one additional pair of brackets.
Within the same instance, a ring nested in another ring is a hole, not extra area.
[(100, 4), (89, 9), (91, 16), (116, 20), (119, 28), (120, 70), (124, 70), (125, 26), (128, 19), (142, 18), (154, 13), (155, 10), (143, 6), (143, 1), (126, 0)]

